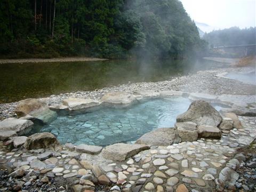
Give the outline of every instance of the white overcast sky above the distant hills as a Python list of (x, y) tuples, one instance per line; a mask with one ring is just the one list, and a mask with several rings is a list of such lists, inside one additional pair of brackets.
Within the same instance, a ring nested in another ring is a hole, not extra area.
[(256, 0), (180, 0), (190, 18), (215, 29), (255, 27)]

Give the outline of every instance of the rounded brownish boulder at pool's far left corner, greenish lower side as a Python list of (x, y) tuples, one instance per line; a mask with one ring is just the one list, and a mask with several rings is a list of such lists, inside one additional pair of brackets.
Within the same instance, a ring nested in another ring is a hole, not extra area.
[(25, 99), (19, 101), (15, 108), (15, 113), (18, 118), (30, 115), (44, 124), (49, 124), (57, 118), (57, 113), (50, 110), (47, 104), (39, 99)]

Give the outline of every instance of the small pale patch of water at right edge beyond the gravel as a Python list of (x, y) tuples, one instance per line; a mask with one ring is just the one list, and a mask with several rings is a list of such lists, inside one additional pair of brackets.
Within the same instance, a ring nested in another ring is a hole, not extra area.
[(250, 73), (228, 73), (226, 77), (244, 82), (246, 84), (256, 85), (255, 71)]

